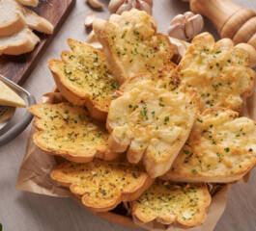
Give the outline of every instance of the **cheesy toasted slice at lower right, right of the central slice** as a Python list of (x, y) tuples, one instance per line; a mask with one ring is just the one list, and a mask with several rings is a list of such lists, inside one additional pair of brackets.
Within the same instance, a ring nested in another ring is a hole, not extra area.
[(256, 123), (224, 108), (198, 116), (165, 180), (228, 183), (256, 164)]

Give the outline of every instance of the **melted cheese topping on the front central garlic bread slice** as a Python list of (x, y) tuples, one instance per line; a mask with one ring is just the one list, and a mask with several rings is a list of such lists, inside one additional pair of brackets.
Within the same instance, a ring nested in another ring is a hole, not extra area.
[(173, 146), (183, 142), (197, 110), (191, 92), (166, 82), (151, 76), (133, 79), (123, 96), (112, 101), (107, 118), (118, 141), (131, 141), (129, 149), (136, 152), (147, 149), (156, 163), (169, 159)]

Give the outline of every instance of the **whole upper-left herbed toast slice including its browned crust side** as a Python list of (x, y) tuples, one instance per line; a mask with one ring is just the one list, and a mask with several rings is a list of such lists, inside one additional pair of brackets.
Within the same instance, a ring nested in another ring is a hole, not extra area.
[(119, 84), (109, 70), (104, 54), (97, 48), (68, 39), (71, 52), (48, 66), (61, 93), (71, 103), (86, 106), (91, 116), (104, 120)]

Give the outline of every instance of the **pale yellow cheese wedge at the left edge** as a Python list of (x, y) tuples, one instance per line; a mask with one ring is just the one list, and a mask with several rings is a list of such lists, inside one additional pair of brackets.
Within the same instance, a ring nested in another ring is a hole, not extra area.
[(0, 106), (26, 107), (25, 101), (0, 81)]

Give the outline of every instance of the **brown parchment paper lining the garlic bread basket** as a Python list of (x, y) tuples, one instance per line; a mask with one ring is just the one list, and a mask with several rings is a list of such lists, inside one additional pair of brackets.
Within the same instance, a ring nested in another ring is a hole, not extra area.
[[(256, 108), (255, 105), (255, 92), (248, 98), (244, 105), (243, 116), (248, 116), (256, 120)], [(58, 103), (64, 101), (63, 97), (57, 90), (54, 92), (46, 93), (43, 95), (42, 102), (48, 103)], [(28, 139), (26, 155), (22, 162), (19, 170), (18, 179), (16, 182), (16, 189), (35, 192), (44, 195), (56, 196), (56, 197), (71, 197), (77, 203), (80, 203), (79, 198), (73, 196), (68, 189), (65, 189), (50, 178), (51, 170), (56, 167), (57, 163), (60, 161), (51, 155), (45, 154), (40, 150), (33, 142), (32, 136), (36, 132), (33, 127)], [(248, 180), (248, 175), (243, 177), (240, 183), (246, 182)], [(213, 194), (213, 201), (208, 211), (208, 217), (206, 221), (198, 227), (189, 229), (191, 231), (213, 231), (218, 219), (223, 214), (226, 207), (227, 191), (229, 185), (223, 186), (218, 192)], [(92, 212), (92, 211), (91, 211)], [(106, 219), (110, 222), (114, 222), (120, 225), (125, 225), (129, 227), (143, 227), (150, 230), (168, 230), (168, 231), (182, 231), (184, 228), (159, 225), (155, 222), (148, 223), (147, 225), (139, 223), (138, 220), (132, 221), (132, 218), (119, 214), (119, 210), (116, 209), (114, 212), (108, 213), (95, 213), (96, 216)]]

